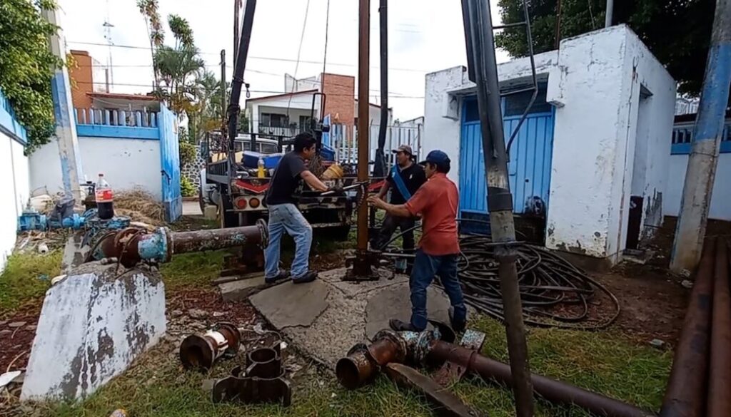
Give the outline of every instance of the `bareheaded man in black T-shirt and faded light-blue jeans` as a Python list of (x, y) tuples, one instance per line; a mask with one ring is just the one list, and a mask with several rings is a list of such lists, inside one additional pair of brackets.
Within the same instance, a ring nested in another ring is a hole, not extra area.
[(315, 138), (307, 133), (298, 134), (294, 146), (295, 150), (279, 161), (265, 197), (269, 210), (269, 246), (264, 251), (267, 283), (290, 276), (289, 272), (279, 269), (279, 248), (284, 232), (295, 240), (296, 245), (292, 282), (308, 283), (317, 278), (317, 272), (309, 270), (312, 226), (297, 208), (295, 191), (300, 180), (316, 191), (327, 191), (327, 186), (305, 166), (305, 160), (315, 156)]

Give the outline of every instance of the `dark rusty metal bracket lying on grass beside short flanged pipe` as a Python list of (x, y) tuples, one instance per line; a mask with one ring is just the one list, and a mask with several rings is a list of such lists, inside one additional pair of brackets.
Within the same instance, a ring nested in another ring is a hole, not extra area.
[(257, 404), (279, 402), (284, 407), (292, 403), (292, 385), (284, 378), (281, 366), (280, 342), (272, 348), (258, 348), (246, 355), (246, 371), (235, 367), (231, 376), (213, 385), (213, 402), (242, 402)]

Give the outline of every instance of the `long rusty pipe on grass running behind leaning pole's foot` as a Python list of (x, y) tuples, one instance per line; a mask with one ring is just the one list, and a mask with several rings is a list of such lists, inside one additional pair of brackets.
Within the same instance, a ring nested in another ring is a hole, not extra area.
[[(467, 372), (480, 375), (485, 380), (495, 380), (505, 386), (512, 386), (510, 365), (482, 356), (475, 351), (462, 348), (442, 340), (434, 340), (426, 356), (429, 364), (439, 366), (451, 361), (465, 367)], [(640, 410), (632, 405), (596, 394), (586, 389), (532, 374), (531, 383), (536, 394), (550, 402), (577, 405), (580, 408), (605, 417), (649, 417), (654, 413)]]

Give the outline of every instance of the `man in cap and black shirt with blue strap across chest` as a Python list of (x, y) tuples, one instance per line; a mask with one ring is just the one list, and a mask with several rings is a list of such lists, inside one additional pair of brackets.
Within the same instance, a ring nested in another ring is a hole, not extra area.
[[(383, 199), (386, 193), (391, 191), (390, 203), (394, 205), (404, 204), (408, 201), (426, 182), (426, 175), (423, 167), (414, 164), (414, 153), (409, 145), (401, 145), (398, 149), (393, 150), (396, 154), (396, 165), (393, 166), (391, 172), (386, 178), (385, 185), (378, 194), (379, 199)], [(374, 249), (382, 250), (384, 245), (391, 240), (393, 232), (400, 229), (401, 232), (412, 229), (414, 227), (414, 218), (394, 217), (386, 214), (383, 220), (381, 230), (373, 243)], [(402, 237), (404, 239), (404, 250), (414, 249), (414, 232), (406, 232)]]

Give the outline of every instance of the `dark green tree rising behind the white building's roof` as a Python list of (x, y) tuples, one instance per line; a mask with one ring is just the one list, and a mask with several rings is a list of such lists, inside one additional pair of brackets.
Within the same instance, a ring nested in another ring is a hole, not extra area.
[[(526, 0), (534, 52), (554, 49), (556, 0)], [(503, 23), (523, 21), (523, 0), (499, 0)], [(561, 0), (561, 39), (604, 27), (605, 0)], [(700, 92), (713, 25), (713, 0), (616, 1), (613, 23), (626, 23), (679, 83), (678, 92)], [(496, 45), (520, 57), (528, 54), (525, 30), (496, 35)]]

